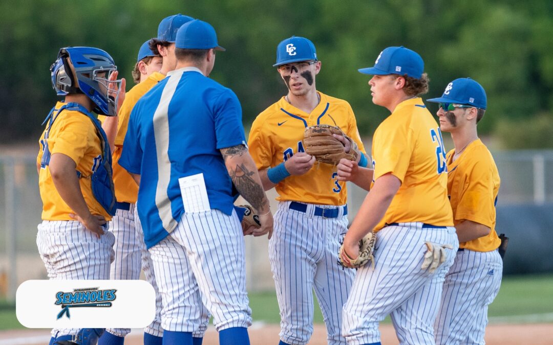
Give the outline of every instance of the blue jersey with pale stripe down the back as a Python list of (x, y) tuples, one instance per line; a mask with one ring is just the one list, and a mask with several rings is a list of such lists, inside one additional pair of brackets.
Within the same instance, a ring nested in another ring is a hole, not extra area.
[(140, 174), (138, 214), (148, 248), (186, 212), (179, 178), (203, 173), (211, 209), (232, 214), (221, 148), (246, 145), (236, 95), (195, 67), (169, 72), (135, 105), (119, 164)]

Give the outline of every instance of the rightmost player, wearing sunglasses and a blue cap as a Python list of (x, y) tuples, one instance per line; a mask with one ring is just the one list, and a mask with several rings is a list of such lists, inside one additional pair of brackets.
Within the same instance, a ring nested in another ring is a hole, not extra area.
[(495, 203), (499, 173), (492, 154), (478, 139), (477, 124), (486, 112), (486, 92), (471, 78), (447, 84), (437, 112), (440, 129), (455, 148), (447, 153), (447, 192), (459, 250), (446, 274), (434, 330), (436, 344), (484, 344), (488, 305), (501, 284), (503, 261), (497, 251)]

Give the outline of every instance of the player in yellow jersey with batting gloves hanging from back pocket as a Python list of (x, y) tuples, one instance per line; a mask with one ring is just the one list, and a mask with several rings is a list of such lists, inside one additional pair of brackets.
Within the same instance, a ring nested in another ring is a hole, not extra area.
[[(374, 132), (371, 191), (343, 241), (357, 258), (359, 240), (376, 232), (374, 268), (358, 269), (343, 309), (348, 344), (380, 344), (379, 322), (390, 315), (402, 344), (433, 344), (442, 284), (458, 247), (447, 200), (440, 128), (418, 95), (428, 79), (419, 54), (380, 52), (369, 81), (374, 104), (392, 114)], [(441, 265), (440, 265), (441, 263)]]

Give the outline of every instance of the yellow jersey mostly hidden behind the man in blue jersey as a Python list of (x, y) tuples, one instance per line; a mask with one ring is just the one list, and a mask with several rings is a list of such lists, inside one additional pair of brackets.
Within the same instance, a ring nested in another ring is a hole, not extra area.
[[(138, 185), (134, 182), (131, 174), (119, 165), (119, 158), (123, 152), (123, 141), (127, 134), (129, 116), (140, 97), (147, 93), (159, 81), (165, 78), (165, 75), (154, 72), (148, 78), (139, 84), (136, 84), (125, 96), (125, 100), (119, 109), (117, 121), (117, 134), (115, 137), (115, 149), (113, 150), (113, 184), (115, 186), (115, 197), (120, 203), (135, 204), (138, 198)], [(98, 116), (103, 121), (105, 116)]]

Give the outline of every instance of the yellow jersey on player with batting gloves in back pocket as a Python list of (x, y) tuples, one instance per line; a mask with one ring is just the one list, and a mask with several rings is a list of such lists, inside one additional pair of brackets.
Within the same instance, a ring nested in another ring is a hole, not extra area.
[(453, 225), (442, 135), (420, 98), (404, 100), (382, 121), (374, 132), (372, 158), (373, 184), (387, 173), (401, 181), (376, 231), (395, 222)]

